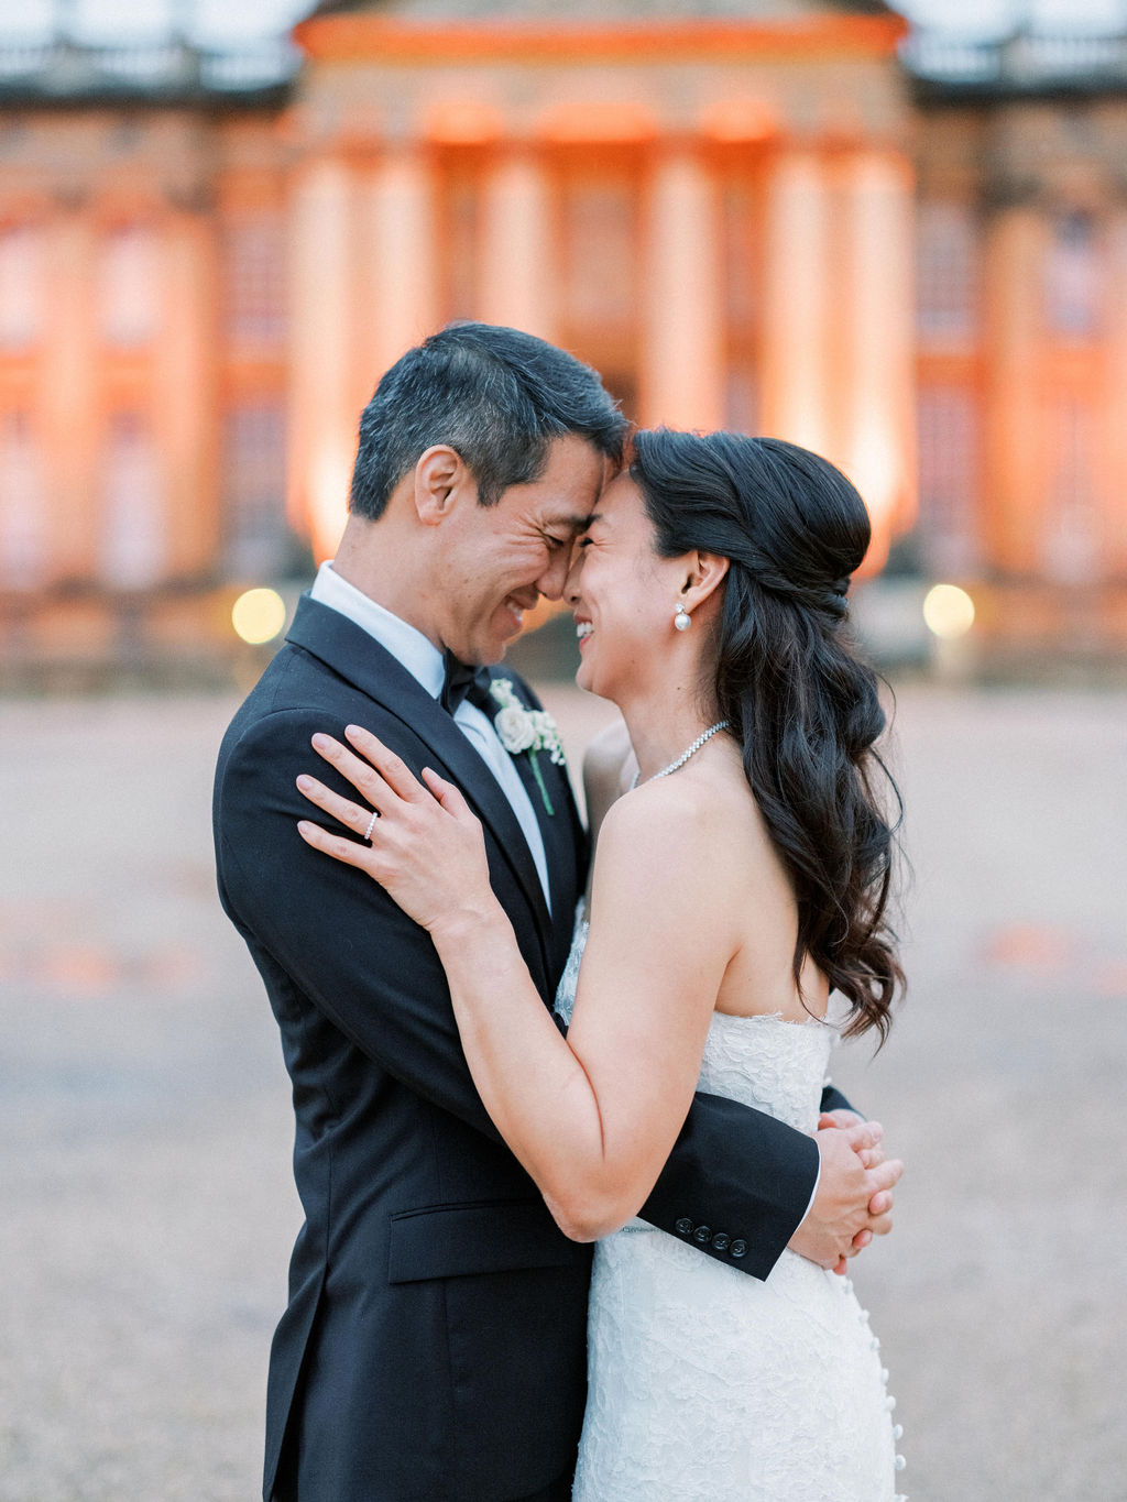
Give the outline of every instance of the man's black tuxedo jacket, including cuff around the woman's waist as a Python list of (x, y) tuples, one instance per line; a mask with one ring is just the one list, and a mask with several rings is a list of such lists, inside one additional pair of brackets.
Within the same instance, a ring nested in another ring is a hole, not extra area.
[[(350, 722), (461, 787), (545, 1005), (586, 876), (562, 769), (541, 754), (551, 816), (530, 784), (548, 916), (512, 808), (461, 730), (359, 626), (302, 599), (224, 737), (213, 808), (219, 895), (293, 1081), (305, 1211), (270, 1352), (263, 1496), (500, 1502), (574, 1461), (591, 1248), (557, 1230), (485, 1114), (427, 933), (298, 835), (296, 775), (335, 775), (310, 737)], [(816, 1170), (811, 1139), (699, 1095), (643, 1215), (766, 1277)]]

